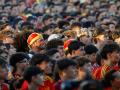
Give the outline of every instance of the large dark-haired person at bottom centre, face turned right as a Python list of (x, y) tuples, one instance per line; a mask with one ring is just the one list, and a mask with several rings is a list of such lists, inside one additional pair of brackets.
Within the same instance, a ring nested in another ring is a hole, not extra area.
[(62, 90), (62, 82), (72, 81), (76, 75), (76, 63), (73, 60), (66, 58), (58, 61), (55, 67), (55, 79), (57, 80), (54, 85), (55, 90)]

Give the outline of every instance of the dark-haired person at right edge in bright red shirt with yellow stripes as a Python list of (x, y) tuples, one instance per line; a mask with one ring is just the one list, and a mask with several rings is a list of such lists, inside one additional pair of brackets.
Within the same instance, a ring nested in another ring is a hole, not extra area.
[(119, 45), (115, 43), (106, 44), (101, 50), (101, 57), (104, 60), (103, 65), (93, 71), (93, 77), (102, 80), (107, 72), (109, 72), (117, 64), (119, 60)]

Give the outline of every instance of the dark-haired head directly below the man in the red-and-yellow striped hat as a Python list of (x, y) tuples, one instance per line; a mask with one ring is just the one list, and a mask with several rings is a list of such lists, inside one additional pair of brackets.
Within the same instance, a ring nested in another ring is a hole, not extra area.
[(49, 64), (50, 58), (46, 54), (35, 54), (31, 61), (30, 64), (32, 66), (37, 66), (41, 70), (45, 71), (47, 68), (47, 65)]

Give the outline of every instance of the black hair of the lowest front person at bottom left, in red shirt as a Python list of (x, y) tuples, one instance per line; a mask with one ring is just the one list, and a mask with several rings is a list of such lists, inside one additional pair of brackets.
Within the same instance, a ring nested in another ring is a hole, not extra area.
[(39, 67), (29, 67), (24, 72), (24, 80), (28, 81), (28, 83), (31, 83), (32, 77), (38, 74), (43, 74), (43, 71), (40, 70)]

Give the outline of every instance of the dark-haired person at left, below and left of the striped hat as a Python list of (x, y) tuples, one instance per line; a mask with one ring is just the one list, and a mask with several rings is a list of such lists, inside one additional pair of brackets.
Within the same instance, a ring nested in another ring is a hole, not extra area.
[(17, 52), (10, 57), (10, 65), (12, 66), (10, 77), (10, 89), (17, 89), (17, 83), (21, 78), (23, 78), (23, 73), (25, 68), (29, 64), (29, 56), (23, 52)]

